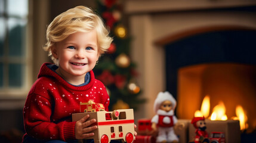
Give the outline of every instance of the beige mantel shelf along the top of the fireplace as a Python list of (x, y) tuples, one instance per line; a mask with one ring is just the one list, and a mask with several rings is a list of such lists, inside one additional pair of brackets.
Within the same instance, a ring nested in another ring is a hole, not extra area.
[(175, 11), (212, 10), (255, 6), (256, 1), (244, 0), (129, 0), (125, 1), (127, 14), (165, 13)]

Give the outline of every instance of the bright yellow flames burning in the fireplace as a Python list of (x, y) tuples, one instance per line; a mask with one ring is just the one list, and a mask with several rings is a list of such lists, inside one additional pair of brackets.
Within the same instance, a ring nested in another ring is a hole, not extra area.
[[(205, 116), (205, 118), (208, 118), (209, 111), (210, 111), (210, 98), (209, 98), (209, 95), (206, 95), (205, 98), (203, 98), (201, 110), (195, 111), (195, 117)], [(227, 120), (226, 107), (223, 101), (220, 101), (218, 105), (215, 105), (215, 107), (212, 109), (212, 113), (209, 119)], [(248, 128), (248, 124), (247, 124), (248, 118), (245, 114), (245, 110), (243, 110), (243, 107), (241, 105), (236, 106), (236, 117), (232, 117), (232, 119), (239, 120), (240, 130), (245, 130)]]

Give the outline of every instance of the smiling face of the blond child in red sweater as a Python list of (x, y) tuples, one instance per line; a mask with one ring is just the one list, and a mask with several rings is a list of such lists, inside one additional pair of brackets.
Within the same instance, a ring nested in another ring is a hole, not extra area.
[(59, 69), (64, 76), (85, 76), (98, 60), (97, 34), (76, 32), (57, 42), (52, 49), (53, 56), (59, 61)]

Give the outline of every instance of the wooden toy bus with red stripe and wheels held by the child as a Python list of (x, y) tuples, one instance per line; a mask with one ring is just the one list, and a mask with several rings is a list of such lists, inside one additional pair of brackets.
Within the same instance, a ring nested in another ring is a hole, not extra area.
[[(85, 107), (87, 105), (87, 107)], [(95, 108), (97, 103), (90, 101), (81, 103), (81, 112), (72, 114), (73, 122), (76, 122), (87, 114), (96, 122), (91, 125), (97, 125), (97, 129), (93, 130), (94, 136), (85, 139), (94, 139), (95, 143), (109, 143), (111, 140), (121, 139), (127, 143), (134, 141), (134, 113), (133, 109), (102, 111), (102, 108)], [(90, 106), (90, 110), (88, 110)], [(97, 110), (96, 110), (97, 109)], [(87, 112), (84, 112), (87, 110)]]

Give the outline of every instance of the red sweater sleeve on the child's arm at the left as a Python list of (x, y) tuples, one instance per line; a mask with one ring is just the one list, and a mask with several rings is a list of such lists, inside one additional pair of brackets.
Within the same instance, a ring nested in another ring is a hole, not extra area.
[(27, 135), (34, 138), (66, 141), (75, 139), (75, 122), (54, 122), (51, 119), (53, 103), (37, 94), (29, 94), (23, 109), (24, 127)]

